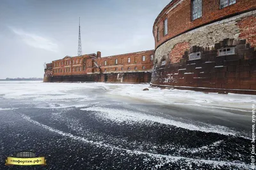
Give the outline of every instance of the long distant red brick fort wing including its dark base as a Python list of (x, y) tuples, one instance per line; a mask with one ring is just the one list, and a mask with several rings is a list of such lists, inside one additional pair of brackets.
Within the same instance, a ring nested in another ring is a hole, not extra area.
[[(54, 60), (51, 64), (47, 64), (47, 68), (45, 69), (45, 81), (149, 82), (154, 65), (153, 63), (154, 50), (125, 53), (108, 57), (101, 57), (100, 52), (76, 57), (66, 56), (63, 59)], [(122, 74), (118, 76), (118, 73)], [(138, 73), (145, 74), (146, 78), (138, 79), (138, 76), (141, 76), (141, 74)], [(104, 74), (109, 74), (111, 78), (106, 78)], [(129, 74), (134, 78), (131, 78)], [(86, 75), (90, 76), (86, 78)], [(92, 75), (97, 76), (93, 78)], [(125, 80), (125, 77), (127, 80)]]

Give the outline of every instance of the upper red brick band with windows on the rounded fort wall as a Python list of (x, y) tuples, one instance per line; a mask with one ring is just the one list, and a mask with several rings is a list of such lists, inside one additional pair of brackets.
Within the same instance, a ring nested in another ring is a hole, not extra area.
[[(192, 11), (193, 6), (195, 11)], [(200, 10), (201, 8), (202, 10)], [(253, 9), (256, 9), (255, 0), (173, 0), (155, 20), (153, 34), (156, 48), (164, 41), (189, 29), (195, 29), (214, 20), (221, 20), (221, 18)], [(164, 34), (164, 20), (166, 18), (168, 19), (168, 33)], [(158, 29), (159, 34), (157, 34)]]

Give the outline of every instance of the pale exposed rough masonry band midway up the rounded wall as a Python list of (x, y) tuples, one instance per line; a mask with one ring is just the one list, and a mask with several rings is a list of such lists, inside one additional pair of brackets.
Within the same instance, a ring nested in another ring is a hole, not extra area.
[[(236, 45), (239, 39), (244, 39), (248, 45), (250, 44), (250, 46), (256, 47), (255, 30), (256, 11), (250, 11), (221, 20), (220, 22), (214, 22), (204, 27), (199, 27), (198, 29), (172, 38), (159, 46), (155, 52), (155, 64), (159, 65), (160, 61), (163, 60), (166, 55), (168, 55), (166, 62), (179, 62), (179, 60), (182, 59), (182, 55), (176, 55), (177, 50), (184, 52), (188, 50), (190, 46), (200, 46), (202, 48), (211, 49), (214, 48), (216, 43), (223, 43), (223, 39), (226, 38), (237, 39), (234, 41), (234, 45)], [(243, 50), (239, 50), (239, 53), (243, 53)], [(243, 53), (243, 55), (250, 57), (253, 53), (254, 50), (246, 52), (246, 54)]]

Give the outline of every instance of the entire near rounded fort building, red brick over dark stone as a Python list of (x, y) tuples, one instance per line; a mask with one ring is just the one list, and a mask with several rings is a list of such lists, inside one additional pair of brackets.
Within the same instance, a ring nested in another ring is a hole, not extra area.
[(256, 94), (255, 0), (173, 0), (154, 25), (152, 85)]

